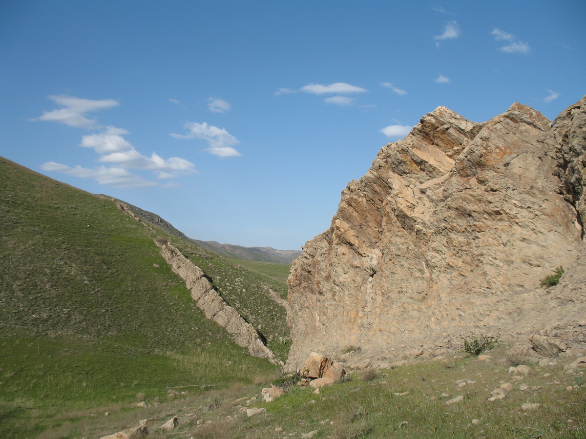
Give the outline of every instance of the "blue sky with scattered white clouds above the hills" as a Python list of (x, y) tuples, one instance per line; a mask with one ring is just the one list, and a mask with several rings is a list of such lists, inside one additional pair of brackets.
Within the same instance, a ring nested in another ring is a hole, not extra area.
[(4, 0), (0, 155), (192, 238), (300, 249), (438, 105), (578, 101), (585, 22), (583, 0)]

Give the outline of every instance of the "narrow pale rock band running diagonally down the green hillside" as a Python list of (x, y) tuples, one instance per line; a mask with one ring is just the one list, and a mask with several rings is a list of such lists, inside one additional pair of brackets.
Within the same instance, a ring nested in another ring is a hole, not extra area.
[(207, 318), (224, 328), (237, 345), (248, 349), (250, 355), (268, 358), (274, 364), (282, 364), (275, 358), (271, 349), (264, 345), (253, 325), (244, 320), (238, 311), (222, 299), (200, 267), (187, 259), (170, 243), (161, 240), (156, 240), (155, 243), (161, 248), (161, 255), (173, 272), (185, 281), (192, 299), (196, 301), (197, 306), (203, 310)]

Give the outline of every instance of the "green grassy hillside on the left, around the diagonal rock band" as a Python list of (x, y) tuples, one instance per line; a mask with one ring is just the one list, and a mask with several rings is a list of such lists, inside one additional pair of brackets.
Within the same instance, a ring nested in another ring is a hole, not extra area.
[[(64, 428), (62, 411), (164, 400), (178, 386), (202, 392), (274, 373), (205, 318), (156, 235), (166, 236), (111, 200), (0, 158), (0, 437)], [(243, 303), (284, 358), (285, 312), (254, 296), (266, 287), (286, 294), (285, 286), (168, 239), (229, 301)]]

